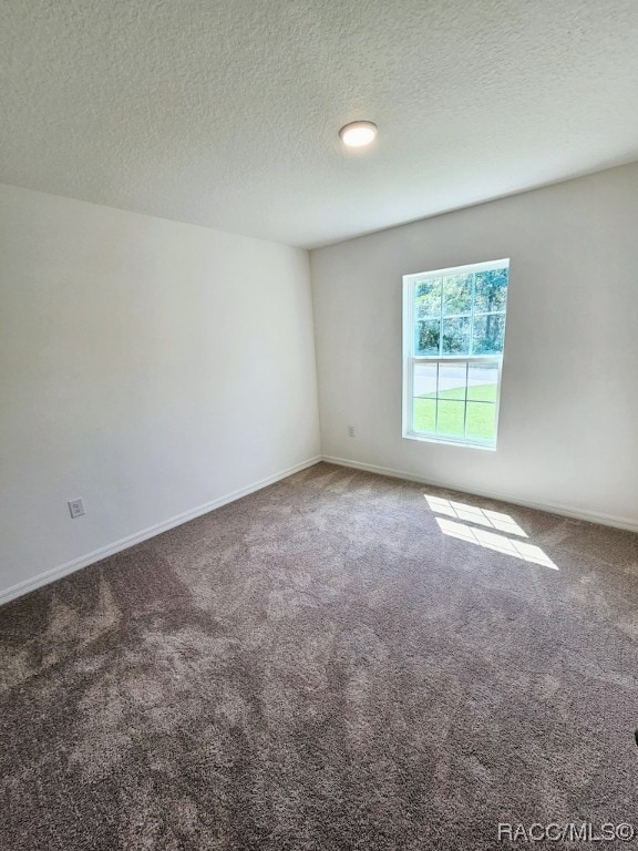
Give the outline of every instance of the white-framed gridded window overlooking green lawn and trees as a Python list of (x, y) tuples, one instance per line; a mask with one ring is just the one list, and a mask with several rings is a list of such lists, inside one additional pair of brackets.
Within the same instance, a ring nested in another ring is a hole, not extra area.
[(496, 445), (510, 260), (403, 278), (403, 437)]

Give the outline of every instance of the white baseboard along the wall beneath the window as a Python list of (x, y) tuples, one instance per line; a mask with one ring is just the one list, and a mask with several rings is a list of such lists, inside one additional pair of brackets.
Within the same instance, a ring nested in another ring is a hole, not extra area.
[(453, 484), (451, 482), (442, 482), (435, 479), (422, 479), (414, 473), (405, 472), (404, 470), (394, 470), (389, 466), (378, 466), (377, 464), (366, 464), (362, 461), (351, 461), (348, 458), (335, 458), (333, 455), (322, 455), (322, 461), (329, 464), (337, 464), (338, 466), (349, 466), (353, 470), (363, 470), (368, 473), (379, 473), (380, 475), (388, 475), (392, 479), (403, 479), (409, 482), (418, 482), (419, 484), (429, 484), (432, 488), (444, 488), (449, 491), (459, 491), (460, 493), (467, 493), (474, 496), (486, 496), (490, 500), (500, 500), (501, 502), (510, 502), (512, 505), (522, 505), (525, 509), (536, 509), (537, 511), (546, 511), (549, 514), (558, 514), (563, 517), (573, 517), (574, 520), (585, 520), (588, 523), (600, 523), (604, 526), (614, 526), (615, 529), (624, 529), (628, 532), (638, 532), (638, 522), (630, 517), (619, 517), (614, 514), (600, 514), (595, 511), (585, 511), (584, 509), (575, 509), (570, 505), (562, 505), (555, 502), (534, 502), (532, 500), (522, 500), (511, 493), (503, 491), (484, 491), (477, 488), (473, 488), (469, 491), (466, 488)]

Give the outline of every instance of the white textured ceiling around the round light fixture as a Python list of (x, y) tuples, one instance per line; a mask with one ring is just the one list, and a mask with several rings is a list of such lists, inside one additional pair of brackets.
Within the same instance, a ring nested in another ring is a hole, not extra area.
[(638, 158), (637, 0), (0, 0), (0, 182), (302, 246)]

